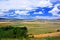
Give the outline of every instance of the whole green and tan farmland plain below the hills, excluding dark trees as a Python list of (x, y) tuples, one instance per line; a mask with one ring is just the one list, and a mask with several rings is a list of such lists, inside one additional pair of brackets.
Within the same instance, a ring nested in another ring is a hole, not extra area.
[[(28, 34), (34, 36), (32, 38), (29, 38), (28, 40), (60, 40), (60, 32), (57, 32), (57, 30), (60, 30), (60, 22), (47, 22), (47, 21), (45, 22), (40, 22), (40, 21), (0, 22), (0, 27), (9, 26), (9, 25), (13, 27), (26, 26), (28, 29)], [(48, 36), (42, 37), (43, 34)], [(53, 34), (55, 34), (56, 36), (52, 36)], [(9, 38), (7, 39), (4, 38), (1, 40), (9, 40)], [(10, 39), (10, 40), (20, 40), (20, 39)]]

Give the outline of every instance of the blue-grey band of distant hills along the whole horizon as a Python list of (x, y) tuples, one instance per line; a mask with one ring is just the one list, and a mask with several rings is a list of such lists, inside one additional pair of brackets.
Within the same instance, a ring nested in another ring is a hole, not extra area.
[(55, 21), (60, 21), (60, 19), (16, 19), (16, 18), (0, 18), (0, 22), (17, 22), (17, 21), (51, 21), (51, 22), (55, 22)]

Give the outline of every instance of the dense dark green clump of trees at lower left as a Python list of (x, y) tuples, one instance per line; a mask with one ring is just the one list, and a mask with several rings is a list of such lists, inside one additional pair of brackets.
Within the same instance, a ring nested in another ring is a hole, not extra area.
[(5, 26), (0, 27), (0, 38), (26, 38), (27, 28), (26, 27), (12, 27)]

